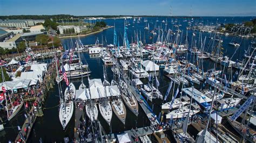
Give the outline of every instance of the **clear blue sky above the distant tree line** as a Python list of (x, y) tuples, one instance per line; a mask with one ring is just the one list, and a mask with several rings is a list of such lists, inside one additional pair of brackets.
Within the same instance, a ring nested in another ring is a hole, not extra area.
[(256, 0), (0, 0), (1, 16), (57, 14), (256, 16)]

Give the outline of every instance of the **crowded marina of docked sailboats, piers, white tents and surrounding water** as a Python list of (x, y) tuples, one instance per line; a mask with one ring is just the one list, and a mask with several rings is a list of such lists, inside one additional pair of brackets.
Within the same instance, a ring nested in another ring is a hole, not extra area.
[(218, 33), (219, 17), (98, 22), (2, 56), (0, 142), (256, 141), (251, 32)]

